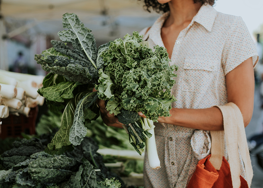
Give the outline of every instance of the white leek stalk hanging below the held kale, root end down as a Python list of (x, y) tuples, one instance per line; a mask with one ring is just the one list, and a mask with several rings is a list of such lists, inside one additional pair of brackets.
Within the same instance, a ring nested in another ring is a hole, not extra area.
[(154, 129), (149, 129), (148, 132), (152, 134), (152, 136), (149, 139), (146, 139), (146, 152), (149, 161), (149, 166), (152, 169), (159, 169), (161, 168), (161, 165), (155, 143)]

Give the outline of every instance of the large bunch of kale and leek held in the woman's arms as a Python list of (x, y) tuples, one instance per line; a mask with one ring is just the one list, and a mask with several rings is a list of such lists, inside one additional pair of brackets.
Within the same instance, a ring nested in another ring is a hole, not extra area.
[[(125, 124), (136, 151), (141, 154), (146, 142), (154, 150), (150, 156), (156, 156), (153, 121), (169, 116), (175, 101), (170, 89), (178, 67), (169, 66), (166, 49), (155, 46), (153, 52), (138, 32), (97, 49), (91, 30), (75, 14), (63, 15), (63, 27), (68, 29), (58, 32), (63, 42), (51, 41), (53, 48), (35, 55), (37, 63), (51, 72), (39, 94), (49, 101), (50, 109), (65, 108), (61, 127), (45, 151), (62, 152), (71, 143), (79, 145), (88, 124), (99, 115), (94, 104), (99, 98), (107, 100), (107, 110)], [(91, 92), (94, 86), (97, 92)], [(148, 118), (142, 119), (140, 111)]]

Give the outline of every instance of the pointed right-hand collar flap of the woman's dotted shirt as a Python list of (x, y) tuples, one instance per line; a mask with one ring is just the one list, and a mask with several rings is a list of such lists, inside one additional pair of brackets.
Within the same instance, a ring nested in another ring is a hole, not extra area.
[(209, 4), (202, 5), (198, 13), (193, 17), (192, 22), (201, 24), (207, 31), (211, 32), (217, 11)]

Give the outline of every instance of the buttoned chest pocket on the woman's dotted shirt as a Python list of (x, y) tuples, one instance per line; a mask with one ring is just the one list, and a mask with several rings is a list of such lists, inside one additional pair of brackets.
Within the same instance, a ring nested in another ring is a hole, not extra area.
[(205, 93), (216, 79), (219, 63), (212, 59), (186, 58), (182, 90)]

